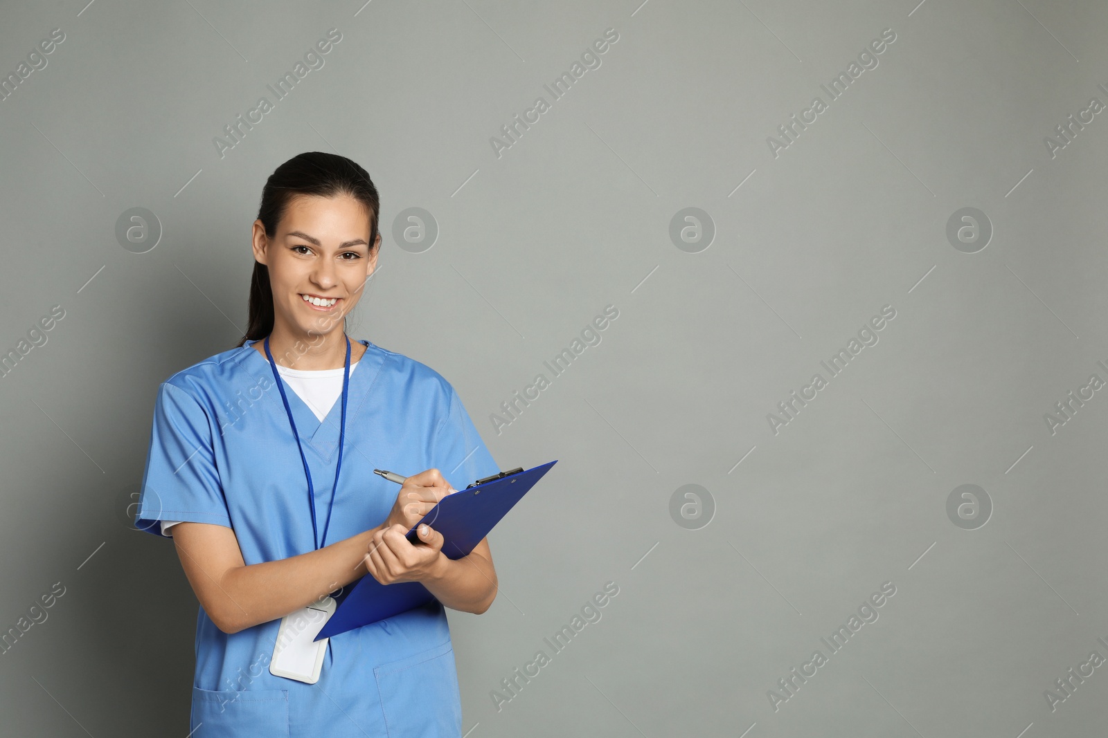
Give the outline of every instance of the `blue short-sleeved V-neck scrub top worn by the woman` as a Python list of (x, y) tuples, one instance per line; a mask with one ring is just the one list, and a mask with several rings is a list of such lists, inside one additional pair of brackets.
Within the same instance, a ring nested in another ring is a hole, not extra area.
[[(315, 549), (304, 465), (269, 362), (254, 343), (158, 387), (135, 516), (136, 527), (158, 537), (158, 520), (227, 526), (247, 564)], [(400, 488), (375, 468), (412, 475), (434, 467), (454, 489), (500, 470), (449, 382), (361, 343), (328, 544), (380, 524), (392, 509)], [(316, 482), (322, 534), (341, 402), (320, 422), (287, 384), (285, 392)], [(316, 684), (269, 673), (279, 623), (228, 635), (199, 607), (194, 738), (461, 736), (458, 673), (439, 602), (331, 637)]]

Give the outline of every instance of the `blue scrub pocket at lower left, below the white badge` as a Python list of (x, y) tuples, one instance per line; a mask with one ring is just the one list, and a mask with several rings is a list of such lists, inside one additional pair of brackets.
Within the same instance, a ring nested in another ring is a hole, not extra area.
[(193, 687), (189, 728), (195, 738), (287, 736), (288, 690), (209, 692)]

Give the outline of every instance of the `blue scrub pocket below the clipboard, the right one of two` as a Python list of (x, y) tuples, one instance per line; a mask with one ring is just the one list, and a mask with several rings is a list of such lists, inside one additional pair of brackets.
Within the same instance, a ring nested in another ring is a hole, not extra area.
[(454, 649), (447, 641), (373, 669), (390, 738), (462, 735)]

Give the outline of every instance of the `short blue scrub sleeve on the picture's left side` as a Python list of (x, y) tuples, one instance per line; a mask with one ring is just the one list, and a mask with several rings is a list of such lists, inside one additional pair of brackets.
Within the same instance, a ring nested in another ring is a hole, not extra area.
[(154, 403), (135, 528), (161, 537), (161, 520), (230, 527), (208, 416), (170, 383), (158, 387)]

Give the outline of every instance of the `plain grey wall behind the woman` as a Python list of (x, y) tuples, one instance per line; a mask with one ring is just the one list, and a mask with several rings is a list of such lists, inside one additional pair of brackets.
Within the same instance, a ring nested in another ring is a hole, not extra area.
[[(1108, 648), (1098, 2), (4, 3), (0, 347), (63, 320), (0, 380), (4, 731), (185, 736), (195, 597), (172, 543), (127, 530), (155, 391), (246, 323), (265, 178), (327, 150), (380, 188), (381, 268), (352, 334), (441, 372), (497, 462), (560, 459), (491, 537), (501, 592), (451, 612), (464, 730), (482, 736), (1087, 736)], [(220, 158), (212, 143), (328, 29), (342, 40)], [(489, 138), (619, 40), (509, 150)], [(767, 137), (883, 29), (895, 42), (774, 157)], [(741, 183), (741, 187), (739, 187)], [(120, 246), (132, 207), (163, 228)], [(391, 225), (435, 218), (411, 253)], [(698, 253), (669, 222), (697, 207)], [(993, 236), (956, 250), (947, 219)], [(90, 281), (91, 280), (91, 281)], [(619, 316), (511, 426), (489, 418), (604, 306)], [(774, 435), (767, 414), (896, 311)], [(741, 460), (741, 462), (739, 462)], [(701, 485), (715, 513), (670, 517)], [(982, 487), (984, 527), (946, 513)], [(701, 521), (702, 522), (702, 521)], [(497, 710), (491, 692), (601, 591), (619, 594)], [(839, 653), (820, 642), (891, 581)], [(774, 710), (767, 695), (828, 663)]]

